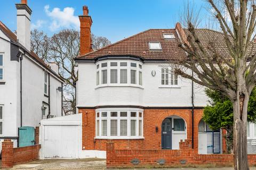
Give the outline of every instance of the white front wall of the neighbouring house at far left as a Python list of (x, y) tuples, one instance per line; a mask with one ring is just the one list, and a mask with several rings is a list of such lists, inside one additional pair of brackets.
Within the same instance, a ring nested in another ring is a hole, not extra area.
[[(0, 37), (9, 40), (2, 31)], [(20, 99), (18, 92), (19, 70), (17, 61), (11, 61), (10, 43), (0, 39), (0, 53), (4, 54), (4, 80), (0, 84), (0, 105), (4, 105), (3, 135), (0, 137), (18, 137), (18, 126), (20, 124)]]

